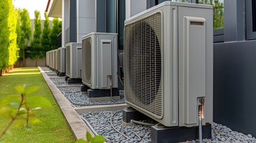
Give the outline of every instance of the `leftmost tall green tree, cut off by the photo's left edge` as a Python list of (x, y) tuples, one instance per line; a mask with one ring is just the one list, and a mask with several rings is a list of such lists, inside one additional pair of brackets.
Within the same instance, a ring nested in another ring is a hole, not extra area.
[(8, 0), (0, 1), (0, 75), (2, 75), (2, 69), (8, 66), (8, 45), (10, 35), (8, 30), (8, 15), (10, 5), (8, 3)]

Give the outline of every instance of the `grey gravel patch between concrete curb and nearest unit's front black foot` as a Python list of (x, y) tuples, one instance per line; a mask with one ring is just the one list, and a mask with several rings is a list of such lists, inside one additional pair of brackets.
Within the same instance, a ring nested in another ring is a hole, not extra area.
[[(103, 135), (107, 142), (151, 142), (150, 126), (143, 125), (127, 125), (122, 124), (122, 112), (119, 111), (112, 117), (113, 126), (128, 136), (127, 139), (110, 125), (110, 117), (116, 111), (100, 111), (94, 113), (81, 114), (82, 117), (88, 120), (92, 128), (99, 134)], [(153, 123), (153, 120), (144, 120), (143, 122)], [(141, 141), (135, 133), (140, 136)]]

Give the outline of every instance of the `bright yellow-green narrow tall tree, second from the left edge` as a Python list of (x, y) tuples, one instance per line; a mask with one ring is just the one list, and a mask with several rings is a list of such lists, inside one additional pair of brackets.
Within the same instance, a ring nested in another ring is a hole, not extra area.
[[(14, 10), (14, 6), (12, 4), (11, 0), (9, 1), (9, 5), (10, 5), (10, 10), (9, 10), (9, 16), (8, 16), (8, 29), (10, 32), (9, 35), (9, 61), (8, 61), (8, 65), (9, 66), (13, 66), (14, 63), (16, 63), (17, 61), (17, 18), (14, 17), (18, 17), (18, 13), (17, 10)], [(11, 67), (12, 68), (12, 67)]]

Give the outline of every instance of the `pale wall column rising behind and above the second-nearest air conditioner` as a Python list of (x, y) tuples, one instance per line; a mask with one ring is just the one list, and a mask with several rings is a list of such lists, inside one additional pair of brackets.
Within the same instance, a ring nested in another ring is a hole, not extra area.
[(95, 1), (77, 0), (76, 24), (77, 42), (82, 42), (82, 36), (96, 32)]

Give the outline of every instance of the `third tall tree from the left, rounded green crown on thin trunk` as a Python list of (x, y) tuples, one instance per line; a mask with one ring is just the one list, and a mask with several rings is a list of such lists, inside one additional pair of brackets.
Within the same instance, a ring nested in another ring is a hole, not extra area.
[[(29, 18), (29, 13), (26, 9), (23, 8), (23, 10), (19, 14), (20, 16), (20, 49), (22, 49), (22, 60), (23, 60), (23, 66), (26, 66), (25, 62), (25, 50), (27, 48), (27, 45), (30, 41), (30, 36), (32, 35), (31, 32), (31, 20)], [(20, 54), (21, 57), (21, 54)]]

